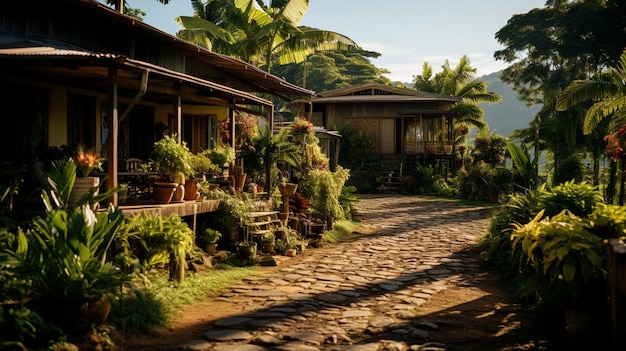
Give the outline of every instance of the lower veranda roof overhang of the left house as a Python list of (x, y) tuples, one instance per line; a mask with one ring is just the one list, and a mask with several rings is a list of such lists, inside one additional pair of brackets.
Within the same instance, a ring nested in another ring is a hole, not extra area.
[(134, 96), (141, 86), (142, 75), (147, 73), (144, 100), (171, 103), (173, 96), (180, 96), (183, 103), (190, 104), (273, 105), (245, 91), (124, 56), (0, 35), (0, 72), (9, 79), (63, 82), (80, 89), (107, 92), (111, 68), (116, 69), (121, 96)]

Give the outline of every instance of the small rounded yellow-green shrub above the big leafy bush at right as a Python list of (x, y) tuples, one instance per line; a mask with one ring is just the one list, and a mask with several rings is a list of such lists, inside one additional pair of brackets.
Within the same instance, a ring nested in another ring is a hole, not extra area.
[(596, 205), (602, 202), (602, 192), (597, 186), (573, 180), (547, 189), (540, 189), (539, 207), (551, 217), (567, 209), (576, 216), (589, 216)]

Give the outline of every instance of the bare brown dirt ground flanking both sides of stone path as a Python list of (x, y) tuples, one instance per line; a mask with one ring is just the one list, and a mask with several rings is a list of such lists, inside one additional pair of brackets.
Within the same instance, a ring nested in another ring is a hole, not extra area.
[[(278, 267), (264, 267), (267, 274), (294, 264), (292, 258)], [(180, 310), (171, 326), (151, 335), (114, 335), (120, 350), (175, 350), (183, 342), (202, 338), (211, 324), (241, 311), (239, 304), (207, 297)], [(563, 321), (526, 311), (513, 300), (498, 277), (485, 273), (467, 286), (446, 289), (416, 310), (419, 319), (434, 322), (432, 341), (447, 350), (573, 350)], [(367, 336), (364, 336), (367, 340)], [(409, 343), (410, 344), (410, 343)]]

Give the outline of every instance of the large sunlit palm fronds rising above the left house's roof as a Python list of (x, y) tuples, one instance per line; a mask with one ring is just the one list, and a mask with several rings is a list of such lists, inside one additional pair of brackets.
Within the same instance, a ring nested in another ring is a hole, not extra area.
[(272, 0), (269, 6), (259, 0), (192, 0), (192, 5), (193, 17), (176, 18), (183, 27), (180, 37), (268, 72), (274, 60), (301, 63), (315, 51), (358, 47), (342, 34), (299, 26), (308, 0)]

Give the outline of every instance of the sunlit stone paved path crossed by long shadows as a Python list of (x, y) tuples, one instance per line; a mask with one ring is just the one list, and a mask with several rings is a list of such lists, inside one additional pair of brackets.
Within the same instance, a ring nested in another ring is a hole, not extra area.
[(185, 350), (445, 350), (436, 322), (414, 325), (414, 308), (479, 277), (464, 252), (491, 209), (408, 196), (372, 195), (358, 205), (376, 234), (313, 253), (276, 274), (221, 295), (246, 313), (216, 321)]

